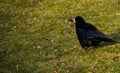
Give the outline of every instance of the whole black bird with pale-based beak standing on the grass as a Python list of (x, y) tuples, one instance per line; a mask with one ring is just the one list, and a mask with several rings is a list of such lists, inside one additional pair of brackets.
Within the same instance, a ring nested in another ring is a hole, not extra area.
[(102, 41), (108, 43), (116, 42), (100, 32), (94, 25), (85, 22), (81, 16), (77, 16), (75, 19), (69, 19), (69, 21), (75, 23), (76, 34), (84, 50), (87, 50), (90, 46), (97, 47)]

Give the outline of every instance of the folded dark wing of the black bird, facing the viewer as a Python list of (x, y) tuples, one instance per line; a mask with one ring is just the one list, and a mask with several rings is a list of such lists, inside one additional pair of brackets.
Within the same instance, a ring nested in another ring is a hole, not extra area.
[(96, 39), (96, 40), (101, 40), (105, 42), (116, 42), (112, 38), (106, 36), (104, 33), (100, 32), (99, 30), (84, 30), (84, 29), (79, 29), (77, 31), (78, 35), (81, 35), (87, 39)]

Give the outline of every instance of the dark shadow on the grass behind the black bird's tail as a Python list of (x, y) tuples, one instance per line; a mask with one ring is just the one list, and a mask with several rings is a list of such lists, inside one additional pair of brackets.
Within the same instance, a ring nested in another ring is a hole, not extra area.
[(104, 46), (108, 46), (108, 45), (119, 45), (120, 44), (120, 28), (117, 30), (116, 33), (111, 34), (109, 36), (117, 42), (113, 42), (113, 43), (102, 42), (102, 43), (100, 43), (100, 45), (98, 47), (104, 47)]

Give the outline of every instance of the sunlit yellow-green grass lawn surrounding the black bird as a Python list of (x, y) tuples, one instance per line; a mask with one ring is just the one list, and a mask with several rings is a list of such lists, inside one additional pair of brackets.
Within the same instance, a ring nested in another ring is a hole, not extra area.
[[(68, 22), (77, 15), (119, 43), (84, 52)], [(0, 73), (120, 73), (120, 5), (117, 0), (1, 0)]]

